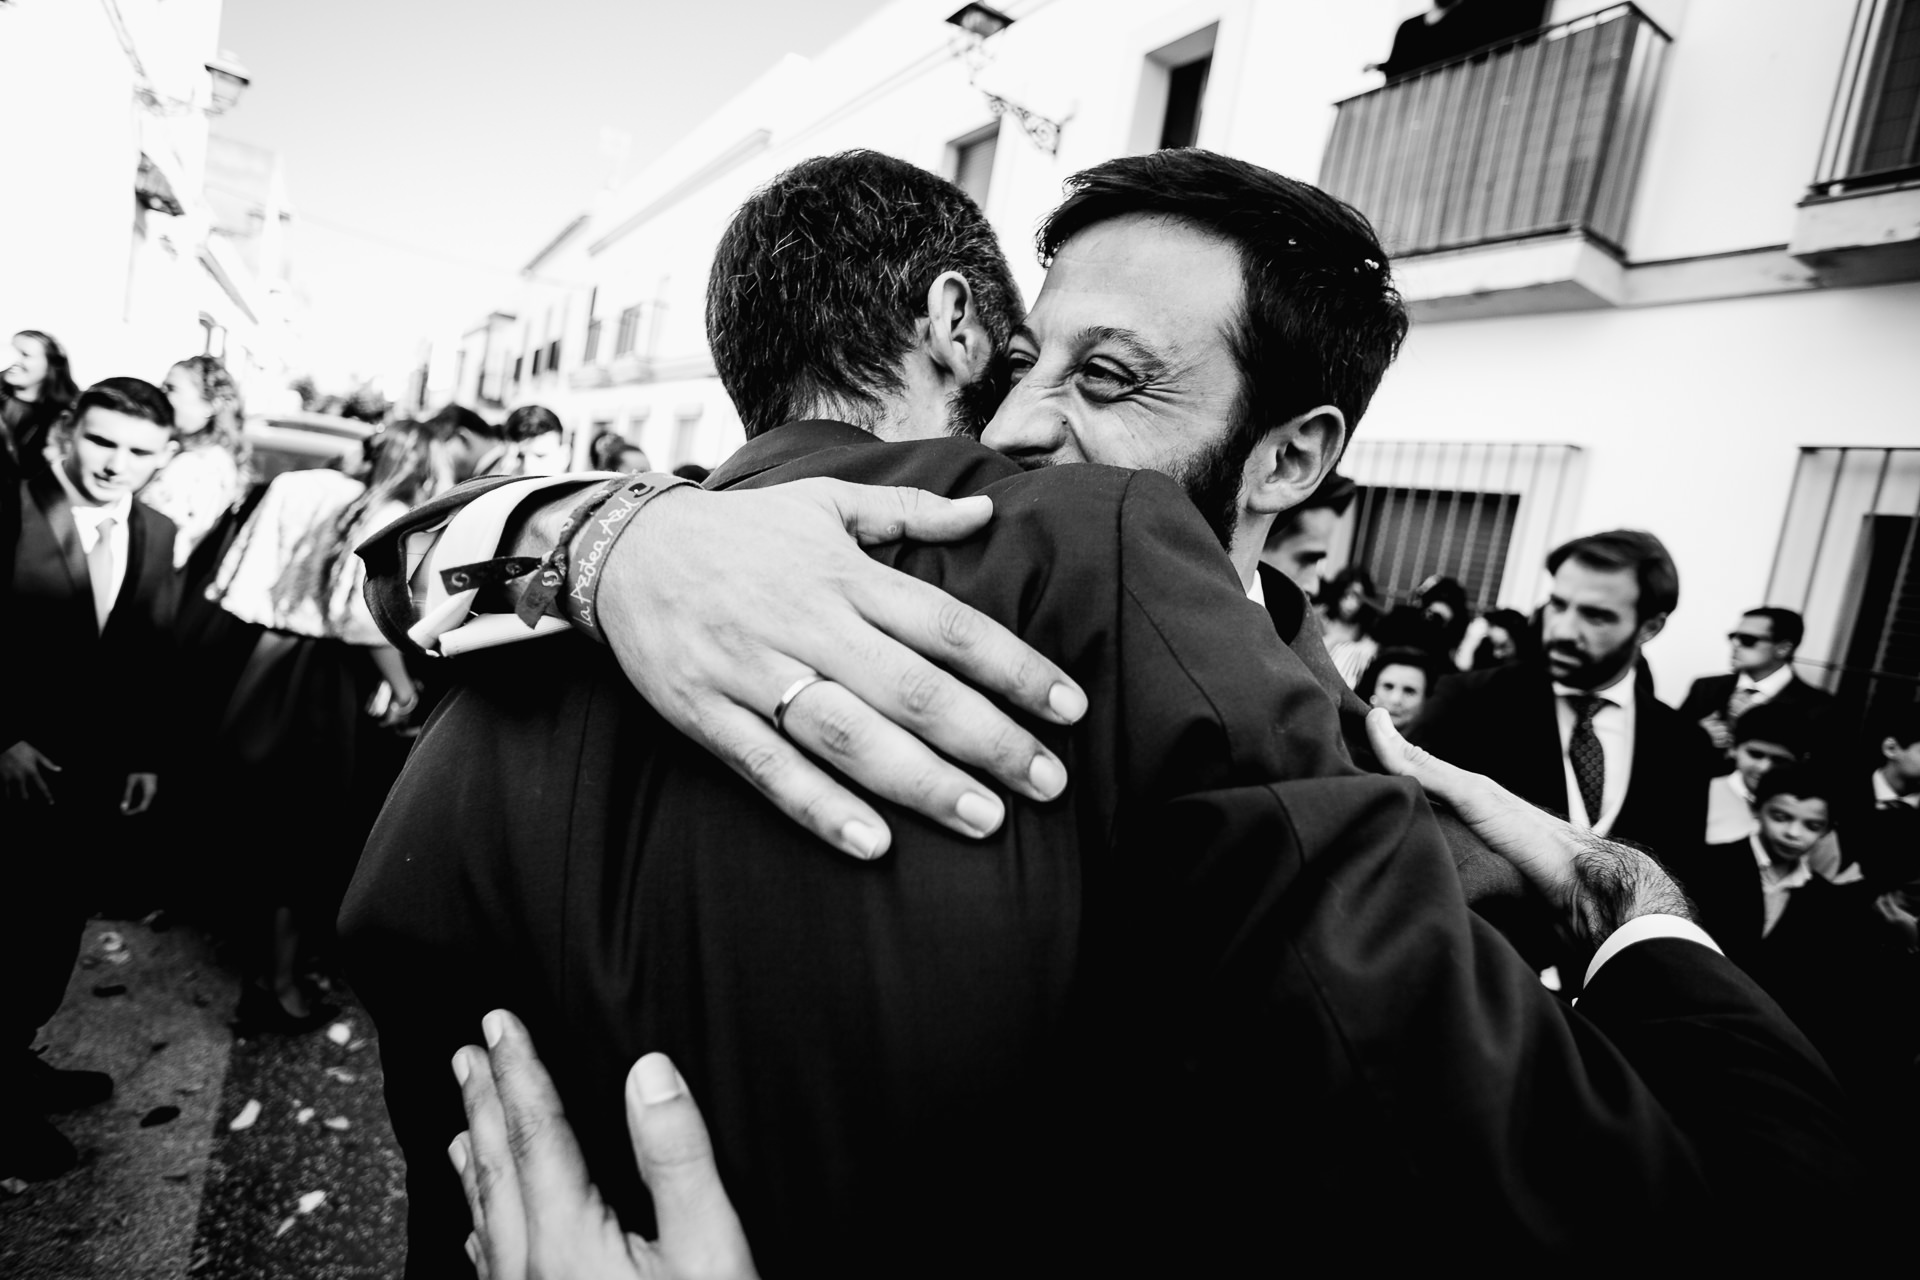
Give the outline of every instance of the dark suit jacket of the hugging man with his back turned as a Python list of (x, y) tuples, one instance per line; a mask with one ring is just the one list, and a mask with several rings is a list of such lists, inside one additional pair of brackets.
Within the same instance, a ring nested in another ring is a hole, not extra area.
[[(463, 1267), (447, 1057), (493, 1006), (636, 1230), (620, 1082), (670, 1052), (766, 1274), (1248, 1274), (1356, 1240), (1597, 1267), (1764, 1184), (1845, 1180), (1832, 1080), (1722, 958), (1628, 948), (1592, 1011), (1540, 986), (1465, 908), (1419, 789), (1342, 758), (1169, 480), (797, 424), (712, 484), (814, 474), (995, 497), (964, 543), (876, 555), (1083, 685), (1079, 725), (1035, 729), (1068, 794), (1012, 798), (981, 842), (883, 804), (893, 852), (858, 864), (588, 641), (461, 658), (342, 913), (413, 1274)], [(376, 614), (405, 532), (444, 514), (367, 549)], [(1657, 1086), (1613, 1034), (1655, 1046)], [(1707, 1086), (1726, 1071), (1743, 1086)]]

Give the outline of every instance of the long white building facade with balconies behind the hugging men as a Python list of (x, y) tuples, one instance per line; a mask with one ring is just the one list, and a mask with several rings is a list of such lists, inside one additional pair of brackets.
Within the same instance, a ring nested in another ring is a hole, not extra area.
[(1761, 603), (1807, 614), (1805, 677), (1912, 697), (1920, 0), (1463, 0), (1507, 29), (1384, 86), (1421, 0), (1023, 0), (985, 38), (952, 4), (781, 61), (605, 192), (436, 345), (426, 399), (714, 464), (741, 432), (703, 290), (753, 188), (854, 146), (947, 173), (1031, 299), (1068, 175), (1190, 142), (1354, 201), (1415, 315), (1342, 462), (1334, 566), (1526, 612), (1553, 543), (1647, 528), (1682, 574), (1647, 651), (1668, 700)]

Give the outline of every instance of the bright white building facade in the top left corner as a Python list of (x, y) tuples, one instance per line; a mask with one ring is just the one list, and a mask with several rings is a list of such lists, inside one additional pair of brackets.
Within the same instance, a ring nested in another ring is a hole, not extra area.
[(246, 79), (221, 0), (0, 2), (0, 336), (54, 334), (86, 382), (213, 353), (284, 382), (292, 294), (278, 159), (221, 144)]

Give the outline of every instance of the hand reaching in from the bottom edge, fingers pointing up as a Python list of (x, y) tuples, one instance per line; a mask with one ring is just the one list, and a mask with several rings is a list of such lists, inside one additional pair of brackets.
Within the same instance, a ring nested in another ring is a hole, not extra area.
[(447, 1157), (482, 1280), (755, 1280), (753, 1251), (714, 1167), (707, 1123), (664, 1054), (626, 1077), (634, 1159), (653, 1194), (657, 1242), (620, 1230), (588, 1178), (561, 1098), (513, 1013), (482, 1019), (488, 1048), (453, 1055), (467, 1132)]

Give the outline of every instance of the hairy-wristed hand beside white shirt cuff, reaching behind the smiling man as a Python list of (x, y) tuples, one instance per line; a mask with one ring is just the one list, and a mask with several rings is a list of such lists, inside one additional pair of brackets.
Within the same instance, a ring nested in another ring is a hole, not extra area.
[(1630, 844), (1548, 814), (1482, 773), (1469, 773), (1407, 743), (1384, 710), (1367, 714), (1367, 739), (1394, 777), (1411, 777), (1444, 802), (1486, 846), (1546, 894), (1574, 935), (1599, 946), (1638, 915), (1693, 919), (1667, 869)]

